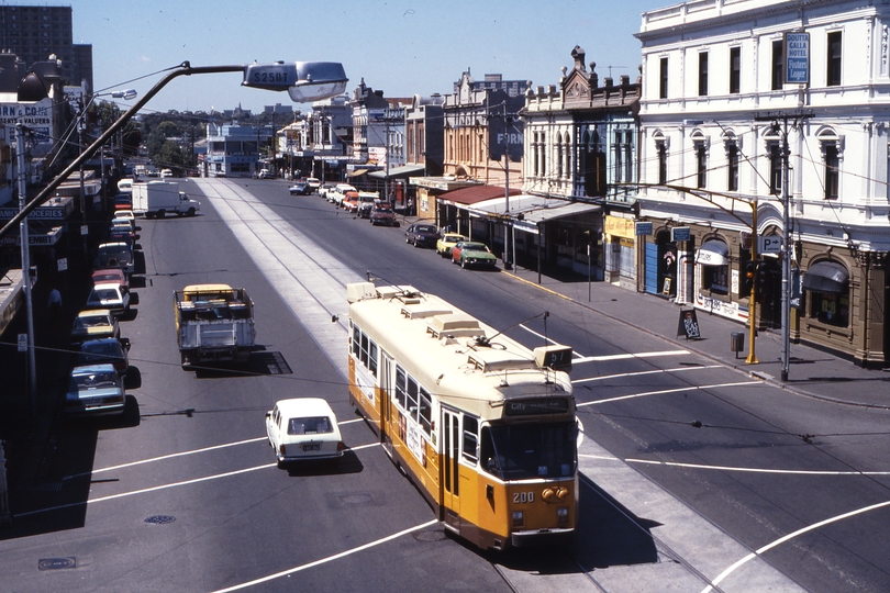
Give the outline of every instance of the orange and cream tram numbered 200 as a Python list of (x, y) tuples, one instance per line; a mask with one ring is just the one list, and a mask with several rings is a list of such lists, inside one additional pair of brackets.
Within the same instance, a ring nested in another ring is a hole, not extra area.
[(571, 349), (530, 350), (411, 287), (347, 287), (349, 401), (443, 525), (481, 548), (578, 521)]

